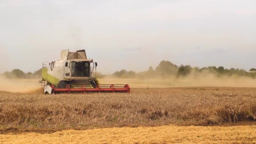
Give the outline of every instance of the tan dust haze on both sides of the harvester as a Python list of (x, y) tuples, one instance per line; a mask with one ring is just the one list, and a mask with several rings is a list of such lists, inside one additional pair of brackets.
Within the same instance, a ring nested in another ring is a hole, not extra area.
[[(20, 93), (43, 93), (40, 79), (7, 79), (0, 77), (0, 91)], [(191, 73), (186, 77), (150, 77), (99, 79), (100, 84), (129, 84), (131, 88), (173, 88), (173, 87), (248, 87), (256, 88), (256, 79), (241, 76), (216, 76), (210, 73)]]

